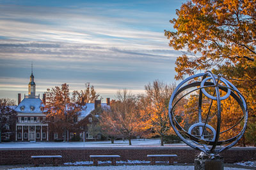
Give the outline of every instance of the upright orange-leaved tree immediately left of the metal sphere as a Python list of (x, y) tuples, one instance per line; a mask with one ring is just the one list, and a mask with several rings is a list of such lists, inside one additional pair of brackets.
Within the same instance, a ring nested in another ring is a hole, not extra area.
[(174, 84), (167, 85), (155, 80), (153, 84), (145, 85), (146, 95), (141, 96), (140, 99), (140, 111), (143, 115), (144, 127), (154, 132), (151, 135), (161, 137), (161, 146), (164, 145), (164, 136), (173, 133), (168, 116), (168, 103), (174, 89)]

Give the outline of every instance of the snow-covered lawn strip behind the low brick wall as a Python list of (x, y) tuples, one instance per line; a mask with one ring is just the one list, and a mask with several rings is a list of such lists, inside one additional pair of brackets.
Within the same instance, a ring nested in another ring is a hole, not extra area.
[[(120, 147), (129, 146), (127, 140), (117, 140), (114, 144), (111, 141), (86, 141), (83, 142), (9, 142), (0, 143), (0, 148), (92, 148), (92, 147)], [(136, 146), (159, 146), (160, 139), (132, 139), (132, 145)], [(164, 146), (187, 146), (184, 143), (166, 144)]]

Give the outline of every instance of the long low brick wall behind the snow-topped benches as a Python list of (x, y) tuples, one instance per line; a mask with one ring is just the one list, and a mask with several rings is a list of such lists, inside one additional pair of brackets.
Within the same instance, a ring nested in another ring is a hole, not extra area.
[[(179, 163), (193, 163), (200, 152), (189, 147), (140, 147), (140, 148), (22, 148), (0, 149), (0, 164), (32, 164), (31, 155), (62, 155), (58, 163), (88, 161), (89, 155), (120, 155), (121, 160), (148, 160), (147, 154), (177, 154)], [(256, 158), (256, 148), (231, 148), (223, 153), (228, 163)], [(52, 159), (42, 160), (51, 164)]]

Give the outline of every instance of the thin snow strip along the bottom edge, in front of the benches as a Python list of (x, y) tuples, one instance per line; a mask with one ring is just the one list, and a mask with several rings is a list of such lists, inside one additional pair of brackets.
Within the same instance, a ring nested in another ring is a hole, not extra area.
[[(61, 166), (61, 167), (23, 167), (23, 168), (15, 168), (12, 170), (126, 170), (126, 169), (134, 169), (134, 170), (193, 170), (194, 166)], [(246, 170), (236, 167), (224, 167), (225, 170)]]

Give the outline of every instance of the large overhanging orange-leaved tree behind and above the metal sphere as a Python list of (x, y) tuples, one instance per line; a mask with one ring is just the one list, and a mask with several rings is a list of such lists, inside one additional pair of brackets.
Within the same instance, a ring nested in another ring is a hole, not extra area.
[[(165, 31), (172, 48), (187, 50), (175, 62), (176, 80), (212, 69), (212, 73), (231, 81), (246, 98), (250, 131), (246, 131), (248, 139), (244, 141), (248, 143), (256, 141), (249, 139), (256, 131), (251, 125), (256, 121), (255, 9), (255, 0), (189, 0), (177, 10), (177, 18), (170, 20), (174, 31)], [(225, 107), (224, 117), (235, 122), (234, 105)]]

